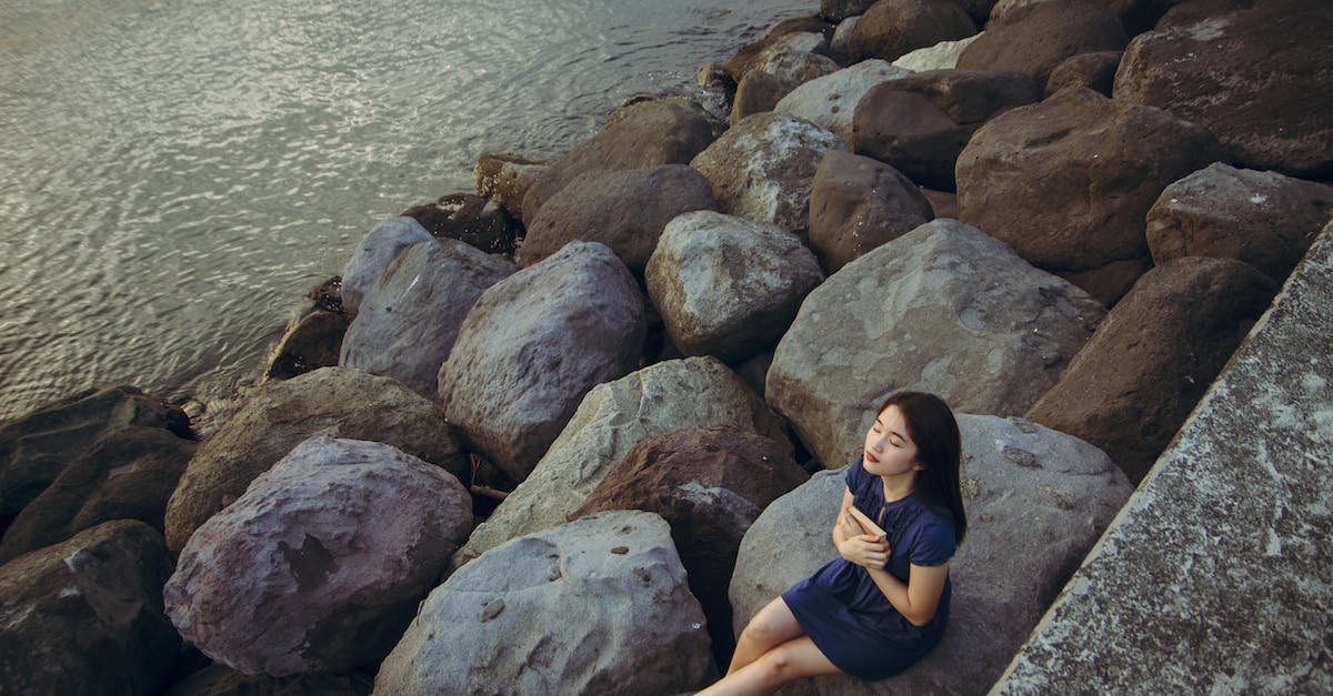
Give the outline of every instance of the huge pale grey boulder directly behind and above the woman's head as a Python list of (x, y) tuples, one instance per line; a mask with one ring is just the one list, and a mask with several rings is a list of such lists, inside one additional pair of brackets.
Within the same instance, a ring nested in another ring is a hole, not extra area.
[(805, 299), (777, 344), (765, 395), (816, 459), (837, 467), (858, 451), (866, 405), (900, 389), (937, 393), (956, 411), (1022, 413), (1104, 313), (981, 231), (934, 220), (846, 264)]

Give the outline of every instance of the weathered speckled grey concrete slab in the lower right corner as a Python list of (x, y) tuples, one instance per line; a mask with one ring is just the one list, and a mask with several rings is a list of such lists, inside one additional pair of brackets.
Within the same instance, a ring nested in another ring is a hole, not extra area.
[(992, 693), (1330, 693), (1333, 224)]

